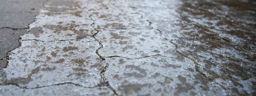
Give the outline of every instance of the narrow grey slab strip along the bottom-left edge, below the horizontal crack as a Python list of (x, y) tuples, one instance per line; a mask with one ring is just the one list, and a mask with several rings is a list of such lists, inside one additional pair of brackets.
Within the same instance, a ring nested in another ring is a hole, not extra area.
[(4, 96), (111, 96), (114, 95), (108, 87), (85, 88), (73, 84), (60, 84), (36, 89), (20, 89), (14, 85), (0, 86), (0, 95)]

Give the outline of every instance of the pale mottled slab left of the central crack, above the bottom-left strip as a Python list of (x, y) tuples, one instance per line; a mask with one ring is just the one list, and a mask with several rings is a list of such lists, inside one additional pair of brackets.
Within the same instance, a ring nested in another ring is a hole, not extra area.
[(1, 72), (1, 84), (35, 88), (64, 82), (90, 87), (99, 84), (104, 67), (94, 52), (98, 42), (23, 41), (9, 52), (8, 67)]

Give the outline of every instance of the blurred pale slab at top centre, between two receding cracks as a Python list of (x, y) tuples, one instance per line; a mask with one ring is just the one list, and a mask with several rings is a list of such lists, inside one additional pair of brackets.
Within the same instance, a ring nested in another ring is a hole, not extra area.
[(93, 1), (88, 0), (90, 17), (94, 20), (94, 28), (151, 28), (143, 16), (133, 12), (125, 1)]

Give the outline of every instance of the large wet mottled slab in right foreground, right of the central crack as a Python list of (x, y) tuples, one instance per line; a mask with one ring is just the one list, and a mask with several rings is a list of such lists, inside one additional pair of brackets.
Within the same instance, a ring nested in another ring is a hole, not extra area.
[[(226, 81), (207, 79), (195, 70), (194, 62), (185, 58), (151, 56), (127, 60), (108, 58), (104, 76), (118, 95), (231, 95), (251, 91), (254, 80)], [(228, 84), (229, 87), (226, 87)], [(244, 85), (244, 86), (243, 86)], [(240, 86), (240, 87), (238, 87)], [(244, 88), (243, 88), (243, 87)], [(229, 89), (230, 88), (230, 89)], [(241, 92), (241, 93), (240, 93)]]

